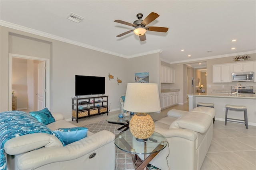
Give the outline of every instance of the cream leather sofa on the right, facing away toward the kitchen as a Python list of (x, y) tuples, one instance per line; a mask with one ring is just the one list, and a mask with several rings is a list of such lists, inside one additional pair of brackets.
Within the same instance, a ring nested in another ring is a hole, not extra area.
[(150, 164), (162, 170), (200, 170), (212, 142), (214, 116), (209, 107), (170, 110), (155, 122), (155, 132), (165, 136), (168, 145)]

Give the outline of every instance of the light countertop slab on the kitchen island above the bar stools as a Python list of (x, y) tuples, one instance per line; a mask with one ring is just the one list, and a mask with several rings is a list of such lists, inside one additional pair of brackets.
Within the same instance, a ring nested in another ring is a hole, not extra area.
[(216, 97), (216, 98), (244, 98), (244, 99), (256, 99), (256, 94), (219, 94), (219, 93), (195, 93), (187, 94), (188, 96), (200, 96), (200, 97)]

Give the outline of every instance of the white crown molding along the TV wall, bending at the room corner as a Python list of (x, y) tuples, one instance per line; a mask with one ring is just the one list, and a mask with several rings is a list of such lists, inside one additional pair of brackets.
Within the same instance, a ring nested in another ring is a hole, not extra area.
[(23, 31), (23, 32), (28, 32), (28, 33), (31, 33), (31, 34), (35, 34), (35, 35), (38, 35), (38, 36), (43, 36), (43, 37), (46, 37), (46, 38), (51, 38), (53, 40), (58, 40), (58, 41), (61, 41), (61, 42), (66, 42), (66, 43), (69, 43), (69, 44), (74, 44), (76, 46), (81, 46), (81, 47), (84, 47), (84, 48), (89, 48), (91, 50), (96, 50), (96, 51), (99, 51), (99, 52), (104, 52), (106, 54), (111, 54), (111, 55), (114, 55), (114, 56), (119, 56), (119, 57), (122, 57), (122, 58), (134, 58), (134, 57), (138, 57), (138, 56), (144, 56), (144, 55), (147, 55), (147, 54), (154, 54), (154, 53), (161, 53), (162, 52), (162, 50), (154, 50), (154, 51), (144, 52), (144, 53), (135, 54), (135, 55), (131, 55), (131, 56), (126, 56), (126, 55), (119, 54), (119, 53), (116, 53), (116, 52), (104, 50), (102, 48), (90, 46), (88, 44), (83, 44), (83, 43), (80, 43), (80, 42), (69, 40), (67, 38), (63, 38), (63, 37), (60, 37), (60, 36), (55, 36), (55, 35), (52, 35), (52, 34), (48, 34), (46, 32), (42, 32), (42, 31), (31, 29), (31, 28), (27, 28), (27, 27), (24, 27), (24, 26), (20, 26), (20, 25), (17, 25), (17, 24), (13, 24), (13, 23), (10, 23), (10, 22), (6, 22), (6, 21), (3, 21), (3, 20), (0, 20), (0, 25), (8, 27), (8, 28), (15, 29), (15, 30), (20, 30), (20, 31)]

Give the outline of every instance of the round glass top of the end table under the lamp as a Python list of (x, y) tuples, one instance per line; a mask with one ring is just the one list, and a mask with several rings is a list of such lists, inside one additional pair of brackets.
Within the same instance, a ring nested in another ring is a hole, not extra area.
[(140, 142), (128, 130), (118, 134), (114, 143), (124, 152), (131, 154), (152, 154), (164, 149), (167, 145), (167, 139), (161, 134), (154, 132), (149, 140)]

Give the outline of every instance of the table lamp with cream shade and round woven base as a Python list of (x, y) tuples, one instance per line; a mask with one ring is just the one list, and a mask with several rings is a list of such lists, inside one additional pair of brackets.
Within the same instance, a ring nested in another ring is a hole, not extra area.
[(154, 121), (147, 113), (161, 110), (158, 84), (128, 83), (124, 110), (137, 112), (130, 120), (130, 131), (138, 141), (147, 141), (154, 133)]

